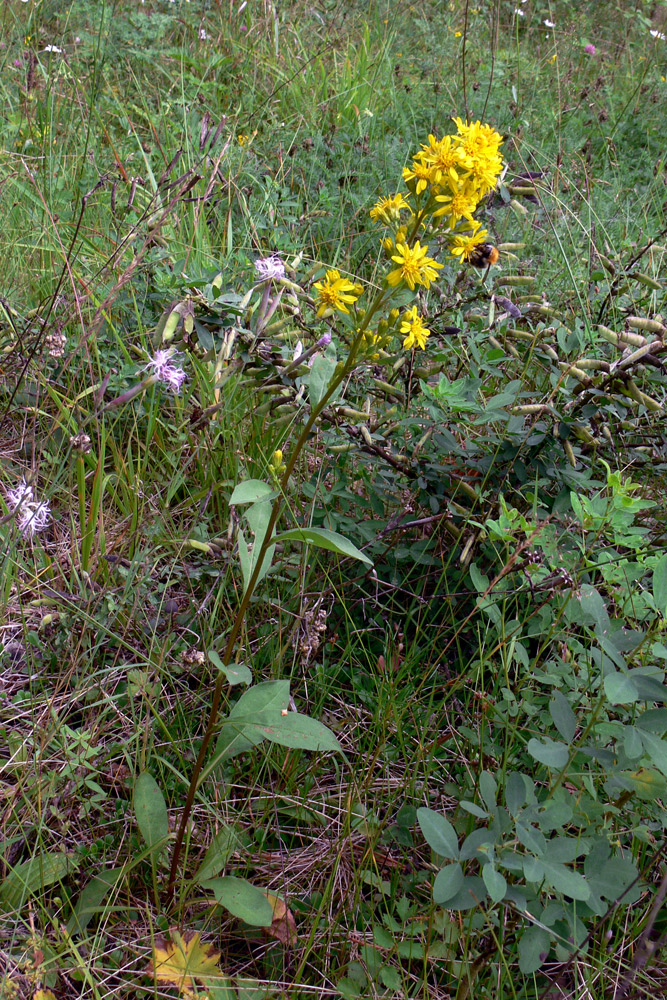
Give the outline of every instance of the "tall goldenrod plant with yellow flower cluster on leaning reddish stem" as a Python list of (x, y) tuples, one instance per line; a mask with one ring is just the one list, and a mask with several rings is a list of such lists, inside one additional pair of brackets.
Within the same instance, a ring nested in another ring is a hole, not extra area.
[[(487, 240), (487, 232), (475, 219), (484, 196), (493, 189), (502, 169), (500, 154), (501, 136), (490, 126), (455, 119), (456, 134), (438, 140), (429, 135), (415, 155), (412, 169), (406, 168), (404, 179), (407, 197), (396, 194), (381, 198), (371, 209), (373, 221), (384, 224), (389, 235), (382, 241), (385, 258), (391, 268), (379, 288), (370, 293), (370, 302), (363, 306), (366, 289), (363, 284), (328, 268), (323, 278), (313, 285), (314, 307), (318, 319), (334, 319), (351, 332), (349, 347), (340, 338), (339, 344), (325, 333), (315, 347), (326, 349), (326, 354), (311, 358), (311, 370), (304, 375), (309, 389), (309, 409), (296, 440), (276, 447), (269, 463), (270, 481), (245, 480), (234, 489), (229, 503), (244, 509), (245, 527), (237, 533), (238, 558), (243, 577), (242, 598), (231, 626), (224, 652), (219, 659), (219, 674), (215, 683), (211, 711), (199, 754), (193, 768), (187, 798), (181, 813), (176, 834), (171, 871), (167, 883), (167, 900), (170, 901), (178, 874), (181, 847), (186, 834), (188, 819), (204, 768), (211, 739), (215, 733), (222, 692), (229, 683), (228, 670), (237, 654), (237, 642), (252, 595), (271, 568), (276, 546), (286, 542), (328, 549), (341, 556), (352, 557), (371, 564), (367, 556), (338, 532), (310, 526), (291, 527), (279, 531), (278, 525), (285, 510), (285, 498), (290, 490), (290, 480), (301, 453), (327, 404), (339, 387), (360, 365), (368, 363), (377, 349), (394, 337), (402, 338), (406, 350), (424, 349), (429, 330), (416, 305), (409, 305), (421, 288), (428, 290), (437, 280), (443, 264), (429, 256), (429, 244), (422, 239), (436, 241), (445, 250), (462, 260), (469, 260)], [(287, 268), (280, 257), (261, 258), (255, 269), (258, 285), (244, 299), (248, 322), (258, 337), (270, 331), (269, 321), (276, 314), (283, 294), (296, 294), (301, 300), (305, 290), (294, 280), (295, 265)], [(392, 266), (395, 265), (395, 266)], [(253, 294), (259, 301), (253, 307)], [(400, 310), (403, 309), (401, 312)], [(399, 326), (400, 323), (400, 326)], [(335, 323), (334, 323), (335, 329)], [(338, 350), (342, 357), (338, 358)], [(299, 353), (295, 360), (304, 365), (306, 355)], [(157, 370), (157, 363), (152, 362)], [(277, 442), (276, 442), (277, 444)], [(248, 535), (248, 531), (250, 534)], [(248, 692), (250, 694), (250, 692)], [(277, 718), (277, 717), (276, 717)], [(324, 727), (322, 727), (324, 729)], [(280, 733), (272, 737), (280, 742)], [(293, 739), (293, 737), (292, 737)], [(335, 741), (333, 741), (335, 744)], [(332, 739), (323, 737), (322, 746), (331, 747)], [(295, 745), (291, 742), (290, 745)], [(318, 745), (317, 742), (315, 744)]]

